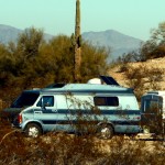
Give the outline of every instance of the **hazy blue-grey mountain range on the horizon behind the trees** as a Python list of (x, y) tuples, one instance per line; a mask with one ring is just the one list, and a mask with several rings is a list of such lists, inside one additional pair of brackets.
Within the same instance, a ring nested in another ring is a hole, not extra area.
[[(8, 44), (9, 42), (16, 42), (18, 36), (23, 30), (0, 24), (0, 43)], [(122, 34), (114, 30), (107, 30), (101, 32), (84, 32), (82, 38), (96, 46), (105, 46), (111, 50), (108, 61), (116, 59), (123, 53), (129, 53), (139, 50), (141, 43), (140, 38), (135, 38)], [(53, 35), (44, 33), (46, 41), (51, 40)]]

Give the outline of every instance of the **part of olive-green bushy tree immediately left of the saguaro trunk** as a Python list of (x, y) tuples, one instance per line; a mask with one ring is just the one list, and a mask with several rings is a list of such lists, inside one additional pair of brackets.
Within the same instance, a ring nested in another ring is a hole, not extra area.
[[(70, 37), (54, 36), (48, 43), (42, 44), (37, 57), (37, 73), (50, 77), (50, 82), (72, 82), (74, 73), (74, 48)], [(44, 61), (43, 61), (44, 59)]]

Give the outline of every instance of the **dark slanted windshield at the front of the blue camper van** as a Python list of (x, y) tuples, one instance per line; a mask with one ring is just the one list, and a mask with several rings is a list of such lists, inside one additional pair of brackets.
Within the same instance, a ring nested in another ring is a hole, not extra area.
[(38, 92), (23, 91), (21, 96), (11, 105), (11, 108), (22, 108), (33, 106), (38, 98)]

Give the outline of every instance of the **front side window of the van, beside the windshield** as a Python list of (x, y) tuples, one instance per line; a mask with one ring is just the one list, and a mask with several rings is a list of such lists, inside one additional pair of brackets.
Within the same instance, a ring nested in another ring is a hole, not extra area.
[(42, 101), (44, 107), (53, 107), (54, 106), (54, 97), (53, 96), (43, 96), (37, 102), (36, 107), (42, 107)]

